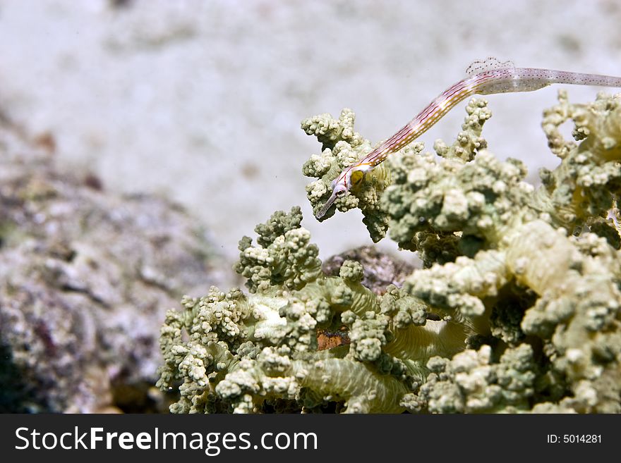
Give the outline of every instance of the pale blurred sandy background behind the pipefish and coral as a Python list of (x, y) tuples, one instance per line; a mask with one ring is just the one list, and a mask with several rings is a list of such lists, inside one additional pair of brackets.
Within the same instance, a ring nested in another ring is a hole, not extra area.
[[(621, 75), (620, 24), (618, 0), (1, 0), (0, 116), (65, 171), (183, 204), (229, 262), (294, 205), (325, 259), (370, 239), (354, 211), (313, 218), (301, 166), (320, 145), (303, 118), (349, 107), (378, 142), (486, 56)], [(566, 87), (575, 102), (600, 90)], [(533, 181), (557, 163), (539, 125), (558, 88), (488, 97), (490, 149)], [(427, 149), (454, 140), (465, 106)]]

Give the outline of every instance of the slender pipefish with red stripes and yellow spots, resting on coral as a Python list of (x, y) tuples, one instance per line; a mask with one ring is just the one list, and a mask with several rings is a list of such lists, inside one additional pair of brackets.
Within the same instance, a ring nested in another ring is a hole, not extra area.
[[(488, 95), (509, 92), (533, 92), (551, 84), (599, 85), (621, 87), (621, 78), (611, 75), (572, 73), (565, 70), (540, 68), (516, 68), (511, 61), (501, 62), (498, 58), (474, 61), (466, 70), (466, 78), (447, 88), (431, 101), (409, 123), (404, 125), (388, 140), (373, 149), (357, 163), (346, 167), (332, 180), (332, 195), (316, 215), (322, 218), (352, 185), (359, 183), (363, 174), (372, 170), (393, 152), (399, 151), (416, 140), (436, 122), (440, 121), (453, 106), (474, 94)], [(354, 177), (353, 175), (356, 174)]]

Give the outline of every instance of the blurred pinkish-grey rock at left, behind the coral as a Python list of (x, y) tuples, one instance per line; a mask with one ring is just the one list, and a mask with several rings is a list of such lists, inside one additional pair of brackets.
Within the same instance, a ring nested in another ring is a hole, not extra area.
[(166, 410), (164, 312), (239, 282), (187, 211), (62, 173), (53, 147), (0, 121), (0, 412)]

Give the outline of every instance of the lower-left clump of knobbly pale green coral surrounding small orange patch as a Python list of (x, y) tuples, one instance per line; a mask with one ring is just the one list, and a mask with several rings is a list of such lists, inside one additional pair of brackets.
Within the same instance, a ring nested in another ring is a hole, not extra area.
[[(235, 268), (250, 295), (212, 288), (186, 297), (162, 327), (158, 385), (181, 381), (173, 412), (258, 412), (276, 403), (311, 411), (339, 402), (346, 412), (400, 412), (435, 354), (462, 350), (463, 323), (426, 318), (426, 304), (363, 285), (363, 268), (344, 261), (323, 275), (299, 208), (258, 226), (257, 245), (240, 245)], [(318, 351), (317, 330), (347, 326), (351, 345)]]

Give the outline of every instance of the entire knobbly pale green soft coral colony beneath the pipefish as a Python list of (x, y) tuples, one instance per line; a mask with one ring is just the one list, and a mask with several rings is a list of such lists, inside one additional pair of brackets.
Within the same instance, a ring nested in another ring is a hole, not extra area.
[[(561, 92), (543, 123), (560, 166), (538, 189), (486, 149), (486, 101), (466, 113), (439, 157), (411, 144), (335, 203), (424, 268), (382, 295), (354, 261), (325, 276), (299, 208), (274, 214), (240, 242), (251, 294), (212, 288), (169, 311), (158, 384), (179, 385), (172, 411), (621, 412), (620, 99)], [(558, 130), (569, 119), (575, 141)], [(349, 110), (303, 128), (322, 143), (303, 168), (316, 212), (371, 147)], [(323, 329), (349, 344), (318, 350)]]

